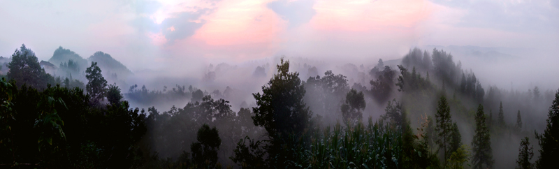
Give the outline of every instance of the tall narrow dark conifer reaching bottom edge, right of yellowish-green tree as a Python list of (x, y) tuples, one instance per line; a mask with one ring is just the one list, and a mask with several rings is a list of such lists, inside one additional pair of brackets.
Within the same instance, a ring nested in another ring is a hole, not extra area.
[(493, 168), (493, 150), (491, 149), (491, 135), (486, 126), (484, 106), (479, 104), (475, 116), (476, 129), (472, 140), (474, 156), (472, 156), (473, 168)]

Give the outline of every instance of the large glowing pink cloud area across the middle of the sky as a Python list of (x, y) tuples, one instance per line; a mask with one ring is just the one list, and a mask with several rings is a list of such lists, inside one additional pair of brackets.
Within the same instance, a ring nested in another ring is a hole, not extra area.
[[(407, 48), (414, 41), (416, 25), (426, 20), (433, 10), (431, 3), (422, 0), (317, 1), (313, 7), (317, 14), (310, 22), (291, 29), (288, 21), (267, 7), (268, 3), (251, 0), (216, 3), (213, 13), (201, 17), (206, 22), (193, 36), (164, 48), (210, 59), (233, 60), (293, 52), (344, 54), (349, 53), (347, 50), (366, 50), (366, 45), (373, 44), (400, 50), (402, 45)], [(151, 37), (154, 44), (163, 44), (161, 36)]]

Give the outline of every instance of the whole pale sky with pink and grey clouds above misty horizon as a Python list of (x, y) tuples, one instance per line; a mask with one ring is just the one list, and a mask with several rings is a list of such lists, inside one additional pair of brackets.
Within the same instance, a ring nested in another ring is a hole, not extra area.
[(286, 55), (402, 57), (410, 47), (556, 50), (559, 1), (0, 1), (0, 56), (22, 43), (111, 54), (133, 71)]

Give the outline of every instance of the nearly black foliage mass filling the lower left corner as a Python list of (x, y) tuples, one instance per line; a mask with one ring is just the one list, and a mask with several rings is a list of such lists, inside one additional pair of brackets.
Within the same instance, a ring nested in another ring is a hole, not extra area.
[[(142, 163), (138, 142), (145, 115), (124, 101), (90, 107), (82, 89), (37, 91), (3, 81), (0, 163), (39, 168), (131, 168)], [(4, 98), (4, 97), (3, 97)], [(7, 117), (7, 118), (5, 118)], [(6, 130), (8, 129), (8, 130)]]

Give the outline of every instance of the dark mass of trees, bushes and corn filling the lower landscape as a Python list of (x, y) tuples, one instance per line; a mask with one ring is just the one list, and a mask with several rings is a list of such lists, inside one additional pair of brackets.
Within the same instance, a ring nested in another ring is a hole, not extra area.
[[(502, 103), (493, 119), (491, 109), (487, 113), (485, 107), (495, 106), (493, 99), (498, 97), (493, 95), (497, 91), (490, 89), (491, 95), (485, 97), (475, 75), (463, 73), (451, 55), (433, 50), (433, 59), (430, 56), (410, 50), (403, 65), (398, 66), (399, 74), (389, 66), (383, 68), (379, 61), (370, 72), (377, 77), (371, 80), (370, 90), (349, 89), (344, 75), (331, 71), (322, 78), (302, 81), (298, 73), (289, 72), (289, 61), (282, 59), (262, 92), (253, 94), (253, 108), (234, 112), (224, 99), (215, 100), (201, 90), (189, 87), (186, 91), (177, 86), (173, 97), (191, 95), (191, 102), (184, 108), (159, 112), (154, 107), (147, 111), (130, 108), (119, 87), (107, 83), (95, 62), (85, 69), (88, 82), (84, 91), (69, 82), (57, 82), (38, 66), (34, 53), (22, 46), (13, 54), (8, 80), (0, 81), (0, 165), (498, 168), (492, 137), (503, 132), (531, 135), (522, 130), (526, 124), (520, 110), (514, 126), (504, 122)], [(434, 72), (434, 78), (429, 71)], [(439, 81), (442, 85), (437, 87)], [(131, 87), (130, 95), (149, 95), (145, 88), (136, 87)], [(402, 99), (390, 101), (396, 89)], [(312, 98), (305, 95), (307, 91), (321, 95), (308, 101)], [(386, 103), (386, 108), (379, 119), (368, 118), (364, 123), (368, 97)], [(336, 101), (340, 105), (331, 104)], [(330, 111), (335, 113), (325, 113)], [(418, 116), (419, 127), (412, 128), (410, 119)], [(342, 122), (330, 125), (324, 123), (326, 118)], [(463, 143), (458, 120), (465, 121), (473, 131), (472, 142)], [(518, 168), (555, 166), (554, 159), (559, 158), (559, 90), (546, 122), (544, 132), (533, 135), (541, 147), (537, 160), (532, 160), (534, 152), (526, 137), (519, 147)]]

